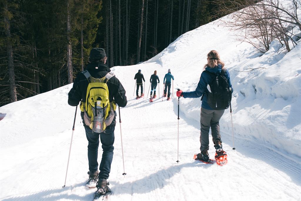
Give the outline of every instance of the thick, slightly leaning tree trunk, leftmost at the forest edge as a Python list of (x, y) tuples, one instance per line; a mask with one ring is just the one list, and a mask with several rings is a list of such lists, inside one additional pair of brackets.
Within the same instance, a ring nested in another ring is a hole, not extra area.
[[(8, 12), (8, 5), (7, 1), (4, 3), (4, 9), (6, 12)], [(17, 90), (16, 90), (16, 80), (15, 80), (15, 70), (14, 70), (14, 57), (13, 57), (13, 48), (11, 46), (11, 27), (10, 27), (10, 21), (5, 14), (5, 35), (7, 37), (7, 57), (8, 57), (8, 76), (9, 76), (9, 94), (11, 98), (11, 102), (17, 101)]]

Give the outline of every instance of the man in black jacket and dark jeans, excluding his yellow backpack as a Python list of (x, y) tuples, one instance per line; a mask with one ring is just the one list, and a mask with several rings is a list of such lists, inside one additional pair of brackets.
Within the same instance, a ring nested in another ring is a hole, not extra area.
[[(107, 61), (106, 53), (102, 48), (93, 48), (89, 56), (89, 64), (86, 70), (90, 73), (93, 78), (103, 78), (111, 70), (105, 64)], [(80, 101), (86, 102), (87, 87), (89, 84), (88, 78), (82, 73), (79, 73), (74, 80), (73, 87), (68, 93), (68, 104), (76, 106)], [(113, 74), (111, 74), (113, 75)], [(89, 78), (90, 79), (90, 78)], [(115, 101), (120, 107), (125, 107), (127, 104), (126, 91), (122, 84), (119, 82), (117, 77), (113, 76), (107, 81), (107, 87), (109, 91), (109, 102)], [(82, 109), (82, 108), (81, 108)], [(88, 187), (97, 187), (97, 192), (104, 194), (108, 190), (107, 179), (109, 177), (111, 163), (113, 160), (114, 150), (114, 130), (116, 124), (116, 112), (114, 111), (113, 121), (108, 125), (104, 132), (96, 133), (92, 132), (89, 125), (85, 124), (84, 112), (81, 112), (83, 124), (85, 127), (86, 137), (88, 140), (88, 162), (89, 162), (89, 180), (87, 182)], [(99, 138), (102, 144), (102, 158), (99, 166), (98, 174), (98, 146)]]

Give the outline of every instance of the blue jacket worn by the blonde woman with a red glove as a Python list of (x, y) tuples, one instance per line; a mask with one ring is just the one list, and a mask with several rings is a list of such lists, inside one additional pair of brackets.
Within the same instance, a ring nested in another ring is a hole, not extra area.
[[(219, 64), (217, 68), (208, 68), (208, 67), (206, 67), (205, 70), (209, 71), (211, 73), (217, 74), (217, 73), (220, 73), (222, 71), (222, 65)], [(230, 81), (230, 74), (229, 74), (228, 70), (226, 70), (225, 77), (227, 78), (229, 87), (231, 87), (232, 92), (233, 92), (232, 84), (231, 84), (231, 81)], [(184, 98), (198, 98), (198, 97), (201, 97), (203, 95), (203, 93), (209, 92), (208, 89), (207, 89), (207, 85), (210, 84), (213, 79), (214, 79), (213, 76), (210, 76), (208, 73), (202, 72), (201, 77), (200, 77), (200, 81), (197, 84), (197, 88), (195, 89), (195, 91), (183, 92), (183, 94), (182, 94), (183, 97)], [(201, 107), (204, 108), (204, 109), (213, 110), (213, 108), (211, 108), (208, 105), (207, 96), (203, 97)]]

